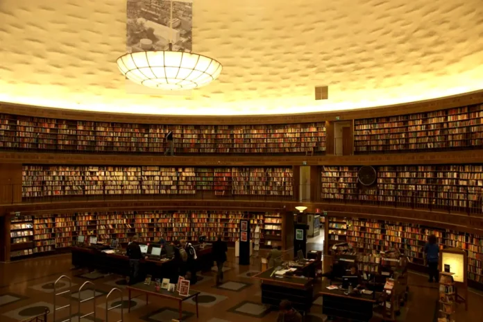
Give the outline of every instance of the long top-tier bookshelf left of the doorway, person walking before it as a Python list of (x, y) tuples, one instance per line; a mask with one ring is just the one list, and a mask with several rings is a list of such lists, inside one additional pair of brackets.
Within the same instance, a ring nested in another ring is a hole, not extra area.
[(80, 153), (290, 154), (325, 151), (325, 122), (272, 125), (160, 125), (0, 115), (0, 149)]

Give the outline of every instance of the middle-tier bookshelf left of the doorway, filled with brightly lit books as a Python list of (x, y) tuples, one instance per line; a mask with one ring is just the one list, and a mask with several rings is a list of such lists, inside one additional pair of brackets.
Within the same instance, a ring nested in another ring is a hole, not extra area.
[(294, 196), (291, 167), (94, 167), (26, 165), (22, 196), (194, 195)]

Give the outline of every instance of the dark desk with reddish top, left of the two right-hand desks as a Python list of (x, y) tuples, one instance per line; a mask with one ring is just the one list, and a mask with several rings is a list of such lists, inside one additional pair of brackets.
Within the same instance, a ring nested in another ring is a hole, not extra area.
[(253, 278), (262, 281), (262, 303), (277, 306), (289, 300), (298, 311), (308, 312), (314, 297), (314, 279), (271, 276), (273, 268), (258, 273)]

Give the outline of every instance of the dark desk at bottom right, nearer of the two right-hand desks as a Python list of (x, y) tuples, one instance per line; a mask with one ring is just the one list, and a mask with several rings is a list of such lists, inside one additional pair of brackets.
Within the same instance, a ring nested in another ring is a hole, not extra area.
[(322, 313), (329, 317), (351, 319), (355, 321), (369, 321), (373, 316), (373, 306), (378, 294), (346, 295), (343, 289), (327, 289), (330, 285), (327, 281), (322, 282)]

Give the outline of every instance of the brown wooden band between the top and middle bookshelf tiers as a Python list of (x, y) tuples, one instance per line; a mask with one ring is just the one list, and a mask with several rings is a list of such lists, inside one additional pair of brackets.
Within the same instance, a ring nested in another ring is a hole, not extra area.
[[(221, 163), (223, 160), (223, 163)], [(72, 153), (1, 152), (1, 163), (17, 164), (82, 164), (133, 166), (291, 166), (307, 165), (407, 165), (407, 164), (471, 164), (483, 163), (482, 150), (394, 153), (378, 155), (321, 155), (321, 156), (176, 156), (101, 155)]]

